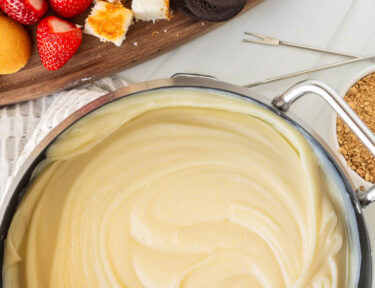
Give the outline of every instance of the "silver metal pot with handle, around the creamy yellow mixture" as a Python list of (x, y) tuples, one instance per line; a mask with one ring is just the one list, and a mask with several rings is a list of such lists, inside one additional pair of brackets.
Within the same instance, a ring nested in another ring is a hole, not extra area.
[(6, 238), (17, 205), (24, 191), (27, 189), (33, 170), (45, 158), (46, 150), (61, 133), (94, 110), (108, 103), (113, 103), (118, 99), (130, 95), (136, 97), (136, 94), (148, 91), (181, 88), (203, 89), (250, 101), (256, 105), (262, 106), (266, 110), (272, 111), (278, 115), (280, 119), (287, 121), (305, 137), (317, 156), (323, 172), (328, 176), (334, 187), (337, 188), (337, 193), (340, 194), (338, 198), (340, 198), (344, 206), (349, 231), (348, 237), (350, 239), (350, 248), (352, 251), (351, 266), (354, 269), (354, 283), (357, 287), (371, 288), (371, 246), (362, 209), (375, 201), (375, 188), (362, 192), (355, 191), (354, 186), (350, 182), (345, 170), (340, 166), (340, 161), (336, 158), (333, 151), (331, 151), (328, 145), (315, 132), (294, 115), (291, 115), (288, 110), (299, 97), (312, 93), (315, 94), (315, 96), (322, 97), (374, 155), (375, 136), (334, 91), (321, 82), (311, 80), (296, 84), (283, 95), (274, 98), (271, 103), (269, 100), (262, 98), (247, 88), (219, 82), (211, 77), (193, 74), (178, 74), (171, 79), (144, 82), (124, 87), (92, 101), (65, 119), (38, 144), (17, 171), (10, 185), (8, 185), (8, 189), (2, 196), (2, 202), (0, 204), (1, 263), (3, 262), (4, 239)]

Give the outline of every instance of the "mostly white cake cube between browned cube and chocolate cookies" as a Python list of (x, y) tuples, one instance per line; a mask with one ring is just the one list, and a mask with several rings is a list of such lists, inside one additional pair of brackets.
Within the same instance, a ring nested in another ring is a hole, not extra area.
[(170, 19), (169, 0), (133, 0), (132, 10), (137, 20)]

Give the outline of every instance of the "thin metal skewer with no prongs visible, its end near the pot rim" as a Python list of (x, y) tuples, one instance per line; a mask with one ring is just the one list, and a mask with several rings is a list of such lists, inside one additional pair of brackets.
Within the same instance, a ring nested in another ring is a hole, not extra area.
[(349, 60), (345, 60), (345, 61), (341, 61), (341, 62), (336, 62), (336, 63), (333, 63), (333, 64), (327, 64), (327, 65), (323, 65), (323, 66), (319, 66), (319, 67), (314, 67), (314, 68), (310, 68), (310, 69), (307, 69), (307, 70), (298, 71), (298, 72), (294, 72), (294, 73), (290, 73), (290, 74), (286, 74), (286, 75), (282, 75), (282, 76), (272, 77), (272, 78), (269, 78), (269, 79), (266, 79), (266, 80), (257, 81), (257, 82), (253, 82), (253, 83), (244, 85), (244, 87), (247, 87), (247, 88), (255, 87), (255, 86), (258, 86), (258, 85), (263, 85), (263, 84), (267, 84), (267, 83), (271, 83), (271, 82), (275, 82), (275, 81), (279, 81), (279, 80), (283, 80), (283, 79), (287, 79), (287, 78), (292, 78), (292, 77), (300, 76), (300, 75), (303, 75), (303, 74), (308, 74), (308, 73), (321, 71), (321, 70), (325, 70), (325, 69), (329, 69), (329, 68), (343, 66), (343, 65), (346, 65), (346, 64), (356, 63), (356, 62), (360, 62), (360, 61), (364, 61), (364, 60), (370, 60), (372, 58), (375, 58), (375, 55), (358, 57), (358, 58), (349, 59)]

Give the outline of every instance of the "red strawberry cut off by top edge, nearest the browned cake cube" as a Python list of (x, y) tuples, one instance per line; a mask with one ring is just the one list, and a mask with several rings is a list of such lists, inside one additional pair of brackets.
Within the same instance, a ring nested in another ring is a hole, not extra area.
[(92, 0), (49, 0), (49, 2), (56, 14), (64, 18), (71, 18), (89, 8)]

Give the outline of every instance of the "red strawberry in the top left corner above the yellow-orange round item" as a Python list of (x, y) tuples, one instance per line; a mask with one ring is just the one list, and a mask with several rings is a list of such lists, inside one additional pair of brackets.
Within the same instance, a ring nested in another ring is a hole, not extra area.
[(0, 0), (0, 8), (22, 24), (34, 24), (47, 12), (46, 0)]

